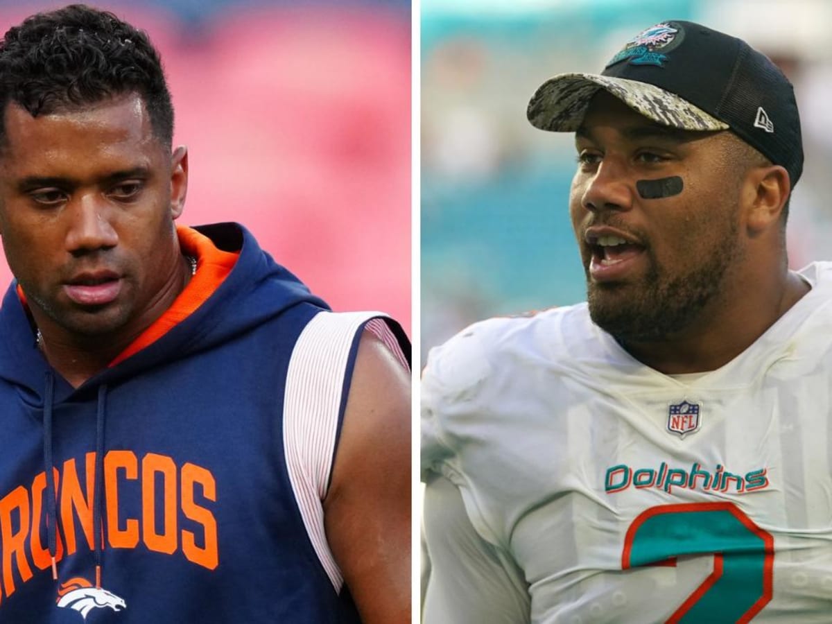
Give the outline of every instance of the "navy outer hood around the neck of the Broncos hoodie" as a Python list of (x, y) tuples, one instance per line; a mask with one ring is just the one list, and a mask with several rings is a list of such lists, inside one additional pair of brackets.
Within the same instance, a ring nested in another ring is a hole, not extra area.
[[(73, 393), (95, 392), (101, 384), (117, 383), (151, 369), (210, 349), (307, 302), (329, 310), (324, 300), (285, 267), (260, 249), (242, 225), (220, 223), (194, 228), (223, 251), (239, 253), (230, 274), (202, 305), (166, 334), (131, 357), (96, 374), (77, 389), (56, 375), (57, 403)], [(17, 282), (7, 290), (0, 309), (0, 379), (16, 385), (27, 402), (42, 405), (44, 376), (51, 367), (37, 349), (32, 324), (17, 295)], [(116, 359), (117, 361), (117, 359)]]

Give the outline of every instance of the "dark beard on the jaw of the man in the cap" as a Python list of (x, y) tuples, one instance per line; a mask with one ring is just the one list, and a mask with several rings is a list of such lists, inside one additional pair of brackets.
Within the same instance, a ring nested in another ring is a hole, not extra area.
[(679, 334), (723, 293), (726, 274), (742, 254), (738, 227), (731, 220), (726, 235), (710, 250), (696, 250), (695, 257), (705, 260), (683, 273), (668, 275), (648, 248), (650, 269), (635, 284), (587, 281), (592, 321), (620, 344), (659, 342)]

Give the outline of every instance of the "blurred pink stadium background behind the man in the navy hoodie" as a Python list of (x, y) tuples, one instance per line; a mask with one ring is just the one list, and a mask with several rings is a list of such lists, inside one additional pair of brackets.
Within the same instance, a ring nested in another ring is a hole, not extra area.
[[(190, 158), (180, 222), (239, 221), (334, 310), (383, 310), (410, 333), (409, 11), (94, 4), (161, 52)], [(2, 2), (0, 32), (57, 6)]]

